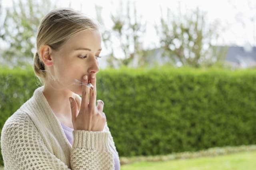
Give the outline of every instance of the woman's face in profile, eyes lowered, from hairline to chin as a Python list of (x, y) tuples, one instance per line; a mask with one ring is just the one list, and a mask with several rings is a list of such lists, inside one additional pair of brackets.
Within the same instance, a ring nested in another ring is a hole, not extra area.
[(88, 75), (90, 82), (91, 73), (98, 73), (101, 49), (101, 35), (95, 30), (80, 32), (68, 39), (58, 51), (53, 50), (51, 71), (58, 89), (68, 89), (81, 95), (82, 86), (77, 82), (82, 82), (84, 75)]

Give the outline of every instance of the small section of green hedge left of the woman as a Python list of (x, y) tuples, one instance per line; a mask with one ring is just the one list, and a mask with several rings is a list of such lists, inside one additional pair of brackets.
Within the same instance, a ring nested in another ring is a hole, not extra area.
[[(32, 69), (0, 69), (0, 131), (8, 117), (33, 95), (35, 89), (36, 79)], [(2, 153), (0, 164), (4, 165)]]

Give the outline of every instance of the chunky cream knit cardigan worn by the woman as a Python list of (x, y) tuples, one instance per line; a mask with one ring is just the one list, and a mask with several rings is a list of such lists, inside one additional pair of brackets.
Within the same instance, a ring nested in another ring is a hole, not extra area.
[(2, 128), (4, 169), (114, 170), (110, 147), (118, 152), (107, 124), (99, 132), (74, 130), (71, 146), (42, 90), (36, 89)]

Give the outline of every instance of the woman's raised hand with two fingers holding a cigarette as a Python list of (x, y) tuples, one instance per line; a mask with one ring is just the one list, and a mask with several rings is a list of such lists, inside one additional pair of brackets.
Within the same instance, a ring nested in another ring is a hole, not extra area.
[[(94, 77), (94, 78), (93, 78)], [(83, 83), (88, 83), (88, 76), (83, 77)], [(76, 101), (70, 97), (70, 107), (72, 113), (72, 123), (74, 130), (88, 130), (88, 131), (103, 131), (106, 124), (106, 115), (103, 113), (104, 103), (98, 100), (96, 103), (96, 74), (91, 74), (90, 83), (94, 86), (94, 89), (90, 89), (86, 85), (82, 85), (82, 101), (80, 110), (78, 112), (78, 106)], [(88, 103), (88, 95), (90, 100)]]

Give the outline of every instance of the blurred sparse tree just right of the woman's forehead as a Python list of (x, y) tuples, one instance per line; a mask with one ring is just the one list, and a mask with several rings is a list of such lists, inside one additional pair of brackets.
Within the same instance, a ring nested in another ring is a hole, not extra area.
[[(138, 16), (135, 2), (132, 4), (127, 1), (126, 10), (122, 1), (119, 1), (118, 11), (116, 14), (111, 14), (113, 27), (111, 30), (102, 32), (102, 39), (106, 47), (110, 47), (110, 57), (108, 63), (114, 65), (117, 63), (119, 66), (125, 65), (129, 67), (140, 67), (146, 65), (142, 50), (142, 36), (146, 31), (146, 21), (142, 20), (142, 16)], [(101, 16), (101, 8), (97, 9), (97, 19), (104, 25)], [(111, 33), (111, 34), (110, 34)], [(122, 53), (117, 56), (117, 51), (113, 49), (114, 40), (119, 42), (119, 47)]]

